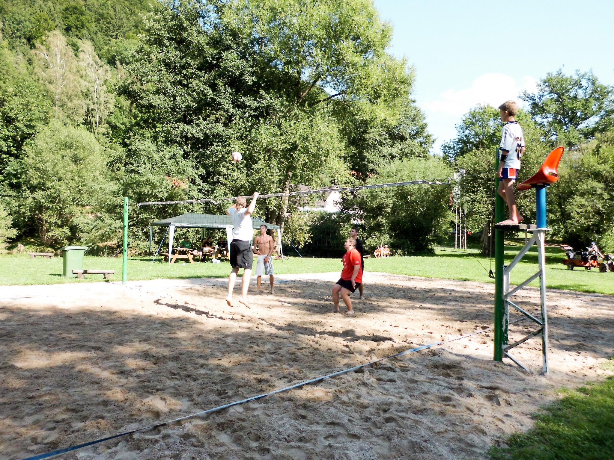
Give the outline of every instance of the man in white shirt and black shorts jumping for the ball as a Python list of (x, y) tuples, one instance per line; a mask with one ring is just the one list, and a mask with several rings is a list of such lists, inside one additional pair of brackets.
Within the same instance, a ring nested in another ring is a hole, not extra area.
[(239, 273), (239, 268), (243, 269), (243, 280), (241, 281), (241, 296), (239, 302), (249, 309), (247, 303), (247, 289), (249, 288), (249, 277), (252, 275), (252, 264), (254, 263), (254, 251), (252, 251), (251, 239), (254, 236), (252, 229), (252, 212), (256, 207), (258, 192), (254, 193), (254, 198), (245, 207), (247, 202), (245, 198), (239, 197), (226, 212), (232, 218), (232, 242), (230, 243), (230, 266), (232, 271), (228, 276), (228, 297), (226, 303), (230, 307), (234, 307), (232, 302), (232, 291), (235, 289), (236, 275)]

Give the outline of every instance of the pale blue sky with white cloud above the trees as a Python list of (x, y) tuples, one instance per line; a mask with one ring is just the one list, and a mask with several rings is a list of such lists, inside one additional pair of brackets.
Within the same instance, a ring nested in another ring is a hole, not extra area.
[[(442, 142), (477, 104), (518, 100), (562, 68), (614, 85), (614, 0), (375, 0), (390, 52), (416, 69), (414, 98)], [(520, 102), (520, 101), (519, 101)]]

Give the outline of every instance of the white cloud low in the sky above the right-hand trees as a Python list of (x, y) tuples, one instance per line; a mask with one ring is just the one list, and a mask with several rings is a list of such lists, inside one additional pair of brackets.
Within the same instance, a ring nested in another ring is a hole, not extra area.
[(429, 123), (429, 131), (437, 137), (433, 150), (437, 151), (445, 140), (452, 139), (456, 134), (454, 127), (465, 115), (478, 104), (490, 104), (493, 107), (508, 101), (515, 100), (521, 104), (518, 95), (524, 90), (534, 93), (537, 80), (530, 75), (516, 81), (513, 77), (504, 74), (484, 74), (473, 80), (468, 88), (456, 90), (451, 88), (440, 93), (437, 99), (419, 102)]

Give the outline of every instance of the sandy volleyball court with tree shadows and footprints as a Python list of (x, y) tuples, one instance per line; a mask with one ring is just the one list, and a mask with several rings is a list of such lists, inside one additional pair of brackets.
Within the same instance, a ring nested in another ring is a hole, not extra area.
[[(251, 309), (228, 307), (219, 279), (2, 286), (0, 458), (169, 420), (492, 324), (492, 284), (368, 273), (367, 298), (348, 318), (330, 313), (337, 278), (279, 276), (276, 294), (253, 295)], [(538, 311), (537, 289), (519, 297)], [(539, 339), (513, 351), (527, 374), (492, 361), (486, 332), (60, 458), (486, 458), (497, 439), (529, 428), (558, 388), (608, 374), (600, 364), (614, 354), (614, 298), (551, 290), (548, 302), (548, 377), (538, 375)], [(516, 324), (511, 339), (529, 328)]]

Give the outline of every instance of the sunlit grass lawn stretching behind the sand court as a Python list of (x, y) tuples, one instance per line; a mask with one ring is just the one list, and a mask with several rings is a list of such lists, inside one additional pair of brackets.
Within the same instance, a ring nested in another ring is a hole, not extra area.
[[(520, 245), (506, 245), (507, 262), (518, 253)], [(599, 273), (597, 269), (567, 270), (561, 263), (565, 254), (558, 247), (546, 248), (546, 283), (549, 288), (572, 289), (593, 293), (614, 294), (614, 273)], [(160, 260), (160, 259), (158, 259)], [(431, 278), (449, 278), (470, 280), (480, 283), (493, 283), (488, 277), (488, 270), (494, 270), (494, 259), (478, 255), (476, 248), (468, 253), (437, 248), (434, 255), (414, 257), (391, 257), (385, 259), (366, 259), (365, 270), (387, 272), (392, 274), (414, 275)], [(85, 269), (115, 270), (112, 281), (122, 280), (122, 258), (85, 256)], [(130, 258), (128, 260), (129, 280), (153, 280), (158, 278), (195, 278), (226, 277), (230, 272), (228, 263), (168, 263), (147, 258)], [(275, 262), (276, 274), (341, 272), (339, 259), (301, 259), (298, 256)], [(513, 284), (523, 282), (537, 272), (537, 247), (524, 256), (512, 272)], [(62, 259), (30, 259), (28, 255), (5, 255), (0, 257), (0, 285), (34, 285), (75, 282), (101, 281), (101, 275), (89, 275), (85, 281), (76, 278), (64, 278)], [(538, 285), (538, 280), (531, 283)]]

